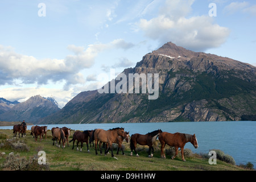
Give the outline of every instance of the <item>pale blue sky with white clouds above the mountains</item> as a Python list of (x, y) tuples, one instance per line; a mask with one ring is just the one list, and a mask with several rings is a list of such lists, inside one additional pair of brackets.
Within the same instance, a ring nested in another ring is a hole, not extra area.
[(256, 66), (255, 19), (253, 0), (1, 0), (0, 97), (63, 107), (167, 42)]

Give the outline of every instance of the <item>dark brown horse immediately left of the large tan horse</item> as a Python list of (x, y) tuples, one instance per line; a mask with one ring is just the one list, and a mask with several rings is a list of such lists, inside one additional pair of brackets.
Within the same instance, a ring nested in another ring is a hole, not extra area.
[(78, 148), (78, 144), (79, 142), (81, 142), (81, 147), (80, 147), (80, 151), (82, 151), (82, 143), (83, 142), (86, 142), (86, 146), (87, 146), (87, 151), (89, 151), (89, 148), (88, 148), (88, 139), (89, 139), (89, 135), (92, 134), (92, 131), (90, 130), (85, 130), (85, 131), (76, 131), (74, 134), (73, 134), (73, 138), (72, 140), (70, 140), (69, 142), (72, 142), (73, 141), (73, 147), (72, 147), (72, 150), (74, 149), (74, 144), (75, 144), (75, 141), (77, 140), (77, 143), (76, 143), (76, 148), (77, 148), (77, 151), (79, 151), (79, 148)]

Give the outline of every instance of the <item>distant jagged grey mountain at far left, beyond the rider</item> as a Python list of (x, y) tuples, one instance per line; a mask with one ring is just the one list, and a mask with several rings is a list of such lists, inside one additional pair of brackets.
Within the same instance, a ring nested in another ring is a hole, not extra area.
[[(54, 100), (54, 99), (53, 99)], [(55, 101), (56, 102), (56, 101)], [(60, 110), (51, 101), (41, 96), (34, 96), (25, 102), (21, 102), (11, 107), (10, 110), (0, 114), (1, 121), (23, 121), (35, 123), (39, 118), (46, 117)]]

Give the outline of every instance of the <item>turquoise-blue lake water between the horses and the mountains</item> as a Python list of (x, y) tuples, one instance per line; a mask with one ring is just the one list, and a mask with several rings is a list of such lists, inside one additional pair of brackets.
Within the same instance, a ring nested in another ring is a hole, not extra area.
[[(108, 130), (125, 127), (125, 131), (130, 131), (130, 135), (147, 134), (157, 129), (168, 133), (196, 134), (199, 148), (194, 148), (190, 142), (185, 144), (185, 148), (198, 154), (208, 153), (210, 149), (220, 149), (225, 154), (233, 156), (236, 164), (251, 162), (256, 168), (256, 121), (66, 124), (47, 125), (47, 129), (51, 130), (56, 126), (66, 126), (72, 130)], [(2, 126), (0, 129), (13, 129), (13, 126)], [(30, 129), (31, 126), (28, 126), (28, 130)]]

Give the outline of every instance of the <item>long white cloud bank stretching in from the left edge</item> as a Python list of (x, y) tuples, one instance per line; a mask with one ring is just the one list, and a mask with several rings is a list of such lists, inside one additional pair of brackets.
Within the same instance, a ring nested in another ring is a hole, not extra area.
[(69, 45), (73, 55), (64, 59), (38, 60), (34, 56), (16, 53), (10, 47), (0, 46), (0, 85), (14, 84), (22, 80), (23, 84), (47, 84), (48, 81), (66, 81), (64, 86), (84, 84), (85, 78), (80, 73), (94, 65), (98, 53), (109, 49), (129, 49), (134, 45), (123, 39), (115, 39), (110, 43), (90, 44), (88, 48)]

